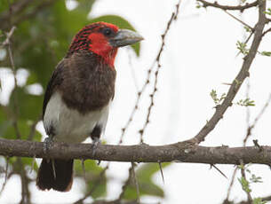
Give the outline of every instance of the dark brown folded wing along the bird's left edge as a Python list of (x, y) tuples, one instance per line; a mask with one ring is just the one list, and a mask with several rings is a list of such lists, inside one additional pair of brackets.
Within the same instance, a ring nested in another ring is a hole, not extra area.
[(55, 68), (55, 70), (52, 73), (51, 79), (47, 84), (47, 88), (44, 94), (44, 106), (43, 106), (43, 118), (45, 114), (46, 106), (52, 97), (52, 94), (56, 90), (57, 87), (60, 86), (60, 84), (63, 82), (63, 69), (65, 68), (65, 59), (61, 60), (58, 66)]

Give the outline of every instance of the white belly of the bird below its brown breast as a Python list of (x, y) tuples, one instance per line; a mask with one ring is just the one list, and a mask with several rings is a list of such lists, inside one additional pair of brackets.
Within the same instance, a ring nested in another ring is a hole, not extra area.
[(49, 129), (53, 125), (56, 141), (67, 143), (81, 143), (90, 137), (92, 129), (100, 125), (104, 131), (108, 121), (108, 106), (88, 114), (80, 114), (75, 109), (69, 109), (55, 92), (50, 98), (44, 113), (44, 127)]

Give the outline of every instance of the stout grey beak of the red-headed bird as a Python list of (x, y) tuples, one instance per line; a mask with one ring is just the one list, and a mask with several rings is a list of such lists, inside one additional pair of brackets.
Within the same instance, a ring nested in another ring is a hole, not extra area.
[(137, 43), (143, 39), (144, 38), (141, 35), (132, 30), (120, 29), (116, 33), (116, 36), (109, 40), (109, 43), (113, 47), (123, 47), (132, 43)]

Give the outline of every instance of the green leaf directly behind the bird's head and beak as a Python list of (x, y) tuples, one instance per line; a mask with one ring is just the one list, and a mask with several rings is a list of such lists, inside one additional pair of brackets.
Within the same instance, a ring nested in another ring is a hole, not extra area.
[[(130, 29), (130, 30), (136, 31), (135, 28), (132, 27), (132, 25), (127, 20), (124, 20), (124, 18), (122, 18), (120, 16), (116, 16), (116, 15), (100, 16), (98, 18), (90, 20), (90, 23), (100, 22), (100, 21), (115, 24), (117, 27), (120, 27), (120, 28), (125, 28), (125, 29)], [(140, 43), (134, 43), (131, 46), (132, 46), (133, 51), (135, 51), (137, 56), (139, 56)]]

